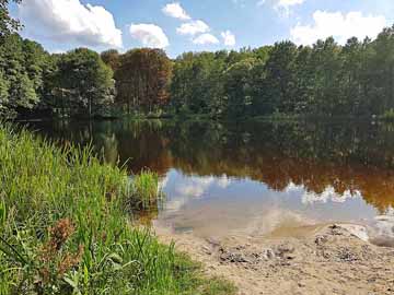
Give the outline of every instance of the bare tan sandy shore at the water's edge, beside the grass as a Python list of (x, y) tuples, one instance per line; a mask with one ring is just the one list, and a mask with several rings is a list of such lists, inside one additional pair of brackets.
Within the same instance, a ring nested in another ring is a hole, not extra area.
[(167, 228), (157, 234), (202, 262), (207, 274), (234, 282), (240, 294), (394, 294), (394, 249), (362, 240), (356, 229), (324, 225), (298, 229), (297, 237), (220, 240)]

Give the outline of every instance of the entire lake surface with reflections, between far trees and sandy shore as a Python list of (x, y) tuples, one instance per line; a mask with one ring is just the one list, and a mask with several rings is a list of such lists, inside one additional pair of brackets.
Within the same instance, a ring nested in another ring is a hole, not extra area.
[(146, 219), (175, 232), (256, 237), (373, 223), (393, 212), (393, 125), (118, 120), (32, 128), (92, 142), (107, 162), (127, 162), (130, 174), (157, 172), (166, 197)]

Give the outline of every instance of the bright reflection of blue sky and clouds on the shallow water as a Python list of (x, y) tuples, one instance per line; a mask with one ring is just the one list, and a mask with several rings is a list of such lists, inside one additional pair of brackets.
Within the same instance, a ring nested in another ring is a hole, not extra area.
[(294, 184), (289, 184), (283, 191), (275, 191), (258, 181), (225, 175), (187, 176), (176, 169), (167, 173), (162, 186), (166, 204), (160, 219), (195, 229), (206, 226), (210, 220), (218, 227), (217, 223), (223, 222), (222, 229), (248, 226), (263, 215), (316, 222), (360, 222), (376, 215), (359, 191), (339, 194), (329, 186), (322, 193), (309, 192)]

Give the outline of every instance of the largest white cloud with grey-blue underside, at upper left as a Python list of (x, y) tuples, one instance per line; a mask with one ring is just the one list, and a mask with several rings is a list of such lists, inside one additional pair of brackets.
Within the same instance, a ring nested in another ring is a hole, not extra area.
[(19, 12), (27, 30), (34, 28), (27, 34), (83, 46), (121, 47), (121, 31), (103, 7), (80, 0), (26, 0)]

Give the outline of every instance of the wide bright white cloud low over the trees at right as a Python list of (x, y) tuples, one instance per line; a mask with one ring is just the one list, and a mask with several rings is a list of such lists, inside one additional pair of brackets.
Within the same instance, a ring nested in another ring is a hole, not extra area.
[(317, 39), (334, 36), (338, 43), (345, 44), (350, 37), (375, 38), (387, 25), (384, 16), (364, 16), (361, 12), (343, 14), (341, 12), (315, 11), (313, 21), (313, 25), (298, 24), (291, 28), (291, 39), (297, 44), (311, 45)]

